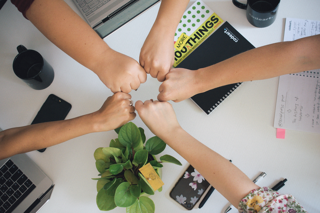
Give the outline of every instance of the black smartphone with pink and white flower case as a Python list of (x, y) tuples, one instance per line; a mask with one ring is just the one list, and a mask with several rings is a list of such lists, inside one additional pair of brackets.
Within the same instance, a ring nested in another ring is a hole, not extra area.
[(209, 182), (190, 165), (173, 186), (170, 197), (184, 208), (191, 210), (209, 185)]

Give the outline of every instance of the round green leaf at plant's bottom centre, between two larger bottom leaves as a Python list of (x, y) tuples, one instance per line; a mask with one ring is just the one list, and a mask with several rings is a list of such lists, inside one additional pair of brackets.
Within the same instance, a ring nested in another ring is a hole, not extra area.
[(119, 207), (128, 207), (137, 201), (137, 198), (130, 193), (130, 183), (123, 182), (117, 189), (115, 194), (115, 203)]

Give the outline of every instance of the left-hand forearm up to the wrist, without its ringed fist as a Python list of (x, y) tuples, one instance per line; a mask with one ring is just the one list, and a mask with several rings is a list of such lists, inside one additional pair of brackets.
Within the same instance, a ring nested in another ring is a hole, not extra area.
[(62, 121), (45, 122), (0, 132), (0, 159), (47, 148), (97, 131), (91, 114)]

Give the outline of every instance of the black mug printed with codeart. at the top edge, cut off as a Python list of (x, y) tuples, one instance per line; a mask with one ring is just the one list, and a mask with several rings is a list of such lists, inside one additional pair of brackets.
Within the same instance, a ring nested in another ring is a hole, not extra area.
[(268, 27), (276, 20), (280, 0), (248, 0), (247, 4), (232, 0), (237, 7), (247, 11), (247, 19), (255, 27)]

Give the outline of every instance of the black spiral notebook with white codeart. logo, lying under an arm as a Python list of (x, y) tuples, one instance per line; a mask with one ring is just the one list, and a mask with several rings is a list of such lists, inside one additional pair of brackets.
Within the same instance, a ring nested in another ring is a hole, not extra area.
[[(224, 22), (186, 59), (176, 67), (197, 70), (255, 48), (228, 22)], [(223, 102), (242, 82), (218, 87), (191, 97), (208, 115)]]

